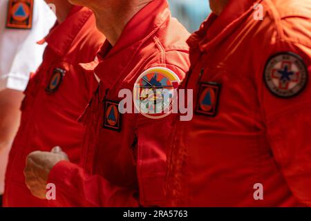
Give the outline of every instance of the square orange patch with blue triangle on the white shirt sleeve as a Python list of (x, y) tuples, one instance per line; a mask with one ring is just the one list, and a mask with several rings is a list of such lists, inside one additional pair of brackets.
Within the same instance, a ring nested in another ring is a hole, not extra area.
[(7, 28), (31, 29), (34, 0), (10, 0), (8, 5)]

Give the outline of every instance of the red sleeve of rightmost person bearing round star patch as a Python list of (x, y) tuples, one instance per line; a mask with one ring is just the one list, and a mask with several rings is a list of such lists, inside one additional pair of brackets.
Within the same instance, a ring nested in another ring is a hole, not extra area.
[(280, 39), (269, 48), (257, 75), (267, 138), (290, 190), (311, 206), (311, 47)]

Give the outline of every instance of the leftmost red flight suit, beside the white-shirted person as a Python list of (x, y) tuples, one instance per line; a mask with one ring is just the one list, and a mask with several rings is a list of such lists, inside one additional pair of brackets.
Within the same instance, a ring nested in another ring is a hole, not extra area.
[[(79, 66), (94, 61), (104, 42), (87, 8), (73, 6), (66, 20), (46, 37), (43, 63), (32, 76), (21, 106), (21, 125), (10, 152), (4, 206), (48, 206), (26, 187), (23, 169), (32, 151), (62, 146), (79, 162), (85, 128), (77, 122), (97, 81)], [(42, 44), (44, 42), (41, 42)]]

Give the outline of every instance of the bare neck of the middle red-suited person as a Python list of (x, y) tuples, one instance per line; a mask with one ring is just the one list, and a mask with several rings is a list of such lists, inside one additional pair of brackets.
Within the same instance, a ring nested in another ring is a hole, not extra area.
[(88, 8), (91, 8), (94, 12), (98, 30), (114, 46), (117, 39), (120, 38), (126, 23), (151, 1), (153, 0), (95, 1)]

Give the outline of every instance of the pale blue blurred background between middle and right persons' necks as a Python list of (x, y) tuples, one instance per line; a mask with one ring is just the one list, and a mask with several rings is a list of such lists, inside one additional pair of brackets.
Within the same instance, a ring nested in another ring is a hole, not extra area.
[(202, 21), (211, 12), (207, 0), (168, 0), (173, 17), (176, 17), (188, 30), (198, 30)]

